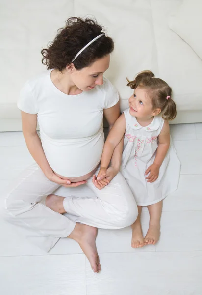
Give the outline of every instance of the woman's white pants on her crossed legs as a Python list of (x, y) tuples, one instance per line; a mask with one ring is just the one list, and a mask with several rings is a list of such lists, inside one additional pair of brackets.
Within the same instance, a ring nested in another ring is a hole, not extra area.
[[(96, 174), (98, 171), (99, 168)], [(87, 194), (89, 190), (91, 194), (81, 196), (79, 192), (86, 186)], [(76, 222), (102, 229), (120, 229), (131, 225), (137, 218), (135, 199), (121, 173), (102, 190), (94, 186), (92, 177), (79, 188), (61, 187), (71, 194), (63, 202), (66, 216), (40, 203), (49, 194), (60, 195), (56, 191), (59, 187), (37, 164), (33, 164), (13, 181), (5, 200), (6, 219), (28, 229), (32, 242), (46, 251), (60, 237), (69, 236)]]

